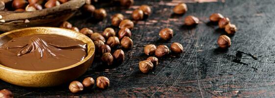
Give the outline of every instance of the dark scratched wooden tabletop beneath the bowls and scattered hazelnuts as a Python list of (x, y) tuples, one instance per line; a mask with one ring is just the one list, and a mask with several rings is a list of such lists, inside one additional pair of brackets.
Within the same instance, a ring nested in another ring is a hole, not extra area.
[[(176, 2), (187, 1), (188, 12), (174, 15)], [(132, 30), (134, 47), (125, 51), (126, 60), (122, 65), (105, 67), (99, 58), (93, 66), (77, 80), (86, 76), (106, 76), (110, 87), (105, 90), (87, 89), (72, 94), (68, 84), (50, 88), (25, 88), (0, 81), (0, 89), (9, 89), (15, 97), (264, 97), (274, 98), (275, 90), (275, 0), (218, 0), (194, 2), (192, 0), (135, 0), (129, 9), (107, 3), (96, 3), (104, 7), (108, 17), (95, 22), (89, 16), (76, 15), (69, 21), (75, 26), (90, 27), (102, 32), (112, 27), (110, 16), (130, 13), (141, 4), (152, 6), (153, 13), (143, 21), (136, 22)], [(237, 25), (238, 31), (230, 36), (229, 49), (218, 49), (217, 39), (226, 34), (217, 25), (208, 23), (208, 17), (219, 12)], [(194, 27), (183, 25), (187, 15), (200, 19)], [(171, 41), (160, 40), (160, 29), (174, 30)], [(118, 28), (116, 28), (118, 30)], [(159, 66), (150, 73), (141, 73), (138, 62), (148, 56), (143, 47), (147, 44), (164, 44), (170, 47), (179, 42), (185, 52), (180, 56), (159, 59)], [(72, 72), (77, 73), (77, 72)], [(11, 74), (12, 75), (12, 74)]]

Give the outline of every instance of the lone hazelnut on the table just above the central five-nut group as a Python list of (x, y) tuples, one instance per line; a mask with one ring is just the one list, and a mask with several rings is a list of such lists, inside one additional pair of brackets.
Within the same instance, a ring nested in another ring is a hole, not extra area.
[(158, 35), (160, 36), (160, 38), (164, 40), (170, 40), (173, 37), (173, 29), (171, 28), (161, 29)]

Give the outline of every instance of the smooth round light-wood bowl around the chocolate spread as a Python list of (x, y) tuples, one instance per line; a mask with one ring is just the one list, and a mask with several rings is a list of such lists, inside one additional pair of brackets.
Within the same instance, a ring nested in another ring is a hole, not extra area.
[(9, 31), (0, 35), (0, 46), (12, 38), (32, 34), (57, 34), (78, 39), (87, 43), (87, 57), (82, 61), (60, 69), (48, 71), (24, 71), (0, 65), (0, 79), (19, 86), (25, 87), (50, 87), (62, 83), (71, 82), (87, 71), (92, 65), (95, 56), (95, 45), (93, 41), (78, 32), (70, 29), (56, 27), (30, 27)]

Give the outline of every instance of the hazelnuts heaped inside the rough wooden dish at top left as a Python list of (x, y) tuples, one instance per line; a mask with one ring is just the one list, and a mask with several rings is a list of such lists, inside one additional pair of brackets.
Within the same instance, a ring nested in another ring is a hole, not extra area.
[(0, 0), (0, 10), (17, 12), (36, 11), (58, 6), (67, 1), (69, 0)]

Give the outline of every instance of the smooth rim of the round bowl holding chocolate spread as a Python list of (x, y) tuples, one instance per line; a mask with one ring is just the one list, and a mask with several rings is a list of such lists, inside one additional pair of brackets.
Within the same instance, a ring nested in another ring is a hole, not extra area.
[[(16, 30), (12, 30), (12, 31), (8, 31), (8, 32), (5, 32), (5, 33), (2, 33), (0, 34), (0, 37), (3, 37), (5, 35), (8, 35), (8, 34), (11, 34), (11, 33), (15, 33), (15, 32), (18, 32), (18, 31), (22, 31), (22, 30), (27, 30), (27, 29), (37, 29), (37, 28), (44, 28), (44, 29), (61, 29), (61, 30), (67, 30), (67, 31), (70, 31), (70, 32), (74, 32), (74, 33), (77, 33), (77, 34), (80, 34), (81, 36), (84, 36), (86, 38), (88, 38), (88, 42), (91, 42), (92, 43), (92, 46), (90, 49), (94, 48), (95, 49), (95, 45), (94, 45), (94, 42), (89, 38), (87, 37), (86, 35), (83, 35), (82, 33), (79, 33), (79, 32), (76, 32), (74, 30), (71, 30), (71, 29), (66, 29), (66, 28), (59, 28), (59, 27), (46, 27), (46, 26), (39, 26), (39, 27), (28, 27), (28, 28), (22, 28), (22, 29), (16, 29)], [(59, 35), (59, 34), (57, 34)], [(61, 35), (61, 34), (60, 34)], [(64, 35), (61, 35), (61, 36), (64, 36)], [(91, 53), (90, 53), (91, 52)], [(93, 55), (95, 55), (95, 50), (93, 51), (87, 51), (87, 56), (80, 62), (77, 62), (73, 65), (70, 65), (70, 66), (67, 66), (67, 67), (63, 67), (63, 68), (59, 68), (59, 69), (53, 69), (53, 70), (46, 70), (46, 71), (27, 71), (27, 70), (19, 70), (19, 69), (14, 69), (14, 68), (9, 68), (9, 67), (6, 67), (2, 64), (0, 64), (0, 68), (4, 69), (4, 70), (8, 70), (8, 71), (14, 71), (14, 72), (18, 72), (18, 73), (53, 73), (53, 72), (59, 72), (59, 71), (63, 71), (63, 70), (68, 70), (68, 69), (71, 69), (71, 68), (74, 68), (76, 66), (79, 66), (81, 64), (83, 64), (84, 62), (86, 62), (87, 60), (89, 60)]]

